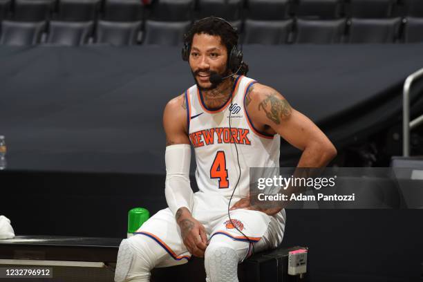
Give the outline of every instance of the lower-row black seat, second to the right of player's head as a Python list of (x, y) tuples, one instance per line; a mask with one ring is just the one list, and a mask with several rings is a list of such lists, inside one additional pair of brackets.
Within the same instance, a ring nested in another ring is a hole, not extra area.
[(298, 19), (295, 42), (312, 44), (341, 43), (345, 28), (346, 19)]

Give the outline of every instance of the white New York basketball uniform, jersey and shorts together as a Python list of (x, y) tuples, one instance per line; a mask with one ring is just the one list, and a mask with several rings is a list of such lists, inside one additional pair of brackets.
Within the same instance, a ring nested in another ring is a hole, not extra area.
[[(254, 82), (247, 77), (237, 77), (232, 91), (232, 106), (229, 97), (225, 105), (213, 111), (205, 106), (197, 86), (191, 86), (185, 92), (185, 98), (187, 129), (195, 148), (196, 180), (200, 189), (194, 194), (191, 214), (205, 227), (209, 240), (214, 238), (210, 241), (212, 244), (228, 236), (232, 241), (256, 242), (254, 249), (261, 252), (281, 244), (285, 210), (268, 216), (255, 210), (235, 209), (230, 212), (230, 220), (227, 211), (229, 198), (240, 176), (236, 149), (241, 179), (236, 186), (233, 203), (248, 194), (250, 167), (279, 167), (280, 136), (256, 131), (245, 111), (245, 94)], [(169, 208), (149, 218), (135, 234), (138, 235), (129, 238), (133, 246), (140, 242), (140, 236), (147, 236), (169, 254), (167, 257), (160, 254), (162, 261), (157, 266), (180, 264), (191, 256), (183, 243), (175, 215)]]

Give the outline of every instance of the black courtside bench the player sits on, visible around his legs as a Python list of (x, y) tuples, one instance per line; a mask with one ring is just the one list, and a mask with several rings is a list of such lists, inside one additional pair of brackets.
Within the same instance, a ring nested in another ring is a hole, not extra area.
[[(69, 236), (16, 236), (0, 240), (0, 267), (50, 267), (56, 281), (113, 281), (114, 268), (122, 238)], [(288, 252), (303, 247), (279, 247), (254, 254), (238, 267), (241, 282), (308, 281), (306, 274), (288, 275)], [(205, 281), (204, 259), (193, 257), (189, 263), (156, 268), (152, 282)], [(0, 279), (1, 281), (1, 279)]]

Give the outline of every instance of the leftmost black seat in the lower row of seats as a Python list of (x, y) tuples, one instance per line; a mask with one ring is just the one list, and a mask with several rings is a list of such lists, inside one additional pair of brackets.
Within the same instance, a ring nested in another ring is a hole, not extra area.
[(0, 44), (14, 46), (38, 44), (45, 28), (45, 21), (2, 21)]

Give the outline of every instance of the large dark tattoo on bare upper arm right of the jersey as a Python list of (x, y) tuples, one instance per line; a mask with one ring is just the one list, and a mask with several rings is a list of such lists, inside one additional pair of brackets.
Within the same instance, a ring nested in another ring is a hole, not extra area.
[(265, 100), (259, 104), (259, 111), (263, 109), (269, 120), (275, 124), (280, 124), (281, 120), (290, 117), (292, 109), (287, 100), (281, 100), (276, 93), (267, 94)]

